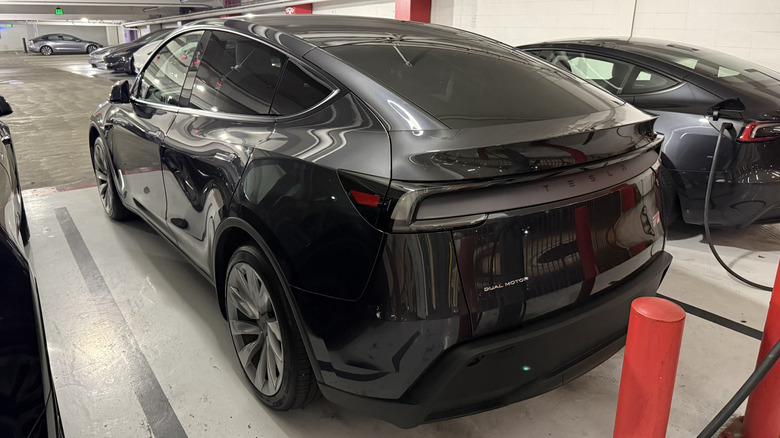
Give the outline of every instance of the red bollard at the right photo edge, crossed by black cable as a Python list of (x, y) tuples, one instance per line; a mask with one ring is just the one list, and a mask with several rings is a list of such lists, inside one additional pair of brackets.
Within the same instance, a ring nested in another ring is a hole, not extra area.
[[(761, 363), (769, 350), (780, 340), (780, 265), (777, 267), (775, 287), (769, 300), (769, 312), (764, 324), (764, 336), (758, 350)], [(745, 411), (746, 438), (780, 436), (780, 366), (776, 363), (758, 384), (748, 399)]]

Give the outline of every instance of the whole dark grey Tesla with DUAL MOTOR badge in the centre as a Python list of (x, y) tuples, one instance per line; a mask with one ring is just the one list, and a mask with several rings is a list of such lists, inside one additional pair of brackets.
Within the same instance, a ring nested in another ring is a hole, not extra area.
[(618, 351), (671, 261), (653, 117), (447, 27), (187, 25), (89, 138), (106, 214), (214, 284), (274, 409), (411, 427), (535, 396)]

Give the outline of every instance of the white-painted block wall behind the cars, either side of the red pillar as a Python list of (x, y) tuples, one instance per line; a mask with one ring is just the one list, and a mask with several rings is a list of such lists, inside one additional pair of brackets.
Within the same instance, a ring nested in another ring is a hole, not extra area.
[[(393, 0), (313, 6), (315, 14), (395, 16)], [(780, 0), (431, 0), (431, 22), (512, 45), (632, 34), (662, 38), (780, 71)]]

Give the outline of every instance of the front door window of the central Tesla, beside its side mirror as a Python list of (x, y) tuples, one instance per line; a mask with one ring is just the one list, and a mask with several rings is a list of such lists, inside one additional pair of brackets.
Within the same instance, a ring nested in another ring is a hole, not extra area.
[(160, 49), (141, 73), (139, 99), (178, 105), (184, 78), (203, 32), (180, 35)]

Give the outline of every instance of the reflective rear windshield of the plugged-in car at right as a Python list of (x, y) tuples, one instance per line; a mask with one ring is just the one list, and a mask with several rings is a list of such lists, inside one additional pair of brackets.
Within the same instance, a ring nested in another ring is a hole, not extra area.
[(780, 73), (774, 70), (716, 51), (672, 46), (653, 48), (648, 53), (702, 76), (735, 86), (780, 81)]

